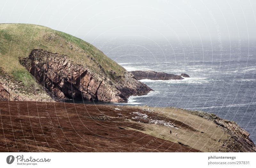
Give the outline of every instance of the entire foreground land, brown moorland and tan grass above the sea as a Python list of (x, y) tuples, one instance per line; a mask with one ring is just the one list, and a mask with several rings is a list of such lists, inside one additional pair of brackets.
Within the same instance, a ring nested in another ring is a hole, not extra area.
[(205, 112), (33, 101), (0, 109), (1, 152), (255, 152), (248, 132), (225, 120), (244, 133), (235, 136)]

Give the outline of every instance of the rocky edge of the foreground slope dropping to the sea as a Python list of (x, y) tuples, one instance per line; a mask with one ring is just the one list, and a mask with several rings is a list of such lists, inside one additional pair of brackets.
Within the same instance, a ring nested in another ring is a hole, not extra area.
[(189, 111), (192, 114), (203, 117), (213, 123), (219, 125), (225, 132), (230, 134), (229, 141), (225, 142), (225, 146), (232, 151), (240, 152), (255, 152), (256, 147), (253, 141), (249, 138), (250, 134), (242, 129), (236, 122), (228, 121), (212, 113), (206, 113), (204, 111)]

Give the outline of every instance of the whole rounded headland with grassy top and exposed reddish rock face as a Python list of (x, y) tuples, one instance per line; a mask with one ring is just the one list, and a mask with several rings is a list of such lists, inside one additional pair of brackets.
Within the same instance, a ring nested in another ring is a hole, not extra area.
[(92, 44), (69, 34), (0, 24), (0, 35), (0, 82), (8, 92), (1, 89), (3, 100), (127, 102), (151, 91)]

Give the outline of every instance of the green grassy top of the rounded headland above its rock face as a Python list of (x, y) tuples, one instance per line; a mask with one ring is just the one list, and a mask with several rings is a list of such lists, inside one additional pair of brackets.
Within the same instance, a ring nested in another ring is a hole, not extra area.
[(124, 68), (92, 44), (67, 33), (32, 24), (0, 24), (0, 68), (25, 87), (32, 87), (35, 81), (20, 65), (19, 57), (28, 57), (32, 49), (68, 55), (74, 63), (110, 78), (125, 73)]

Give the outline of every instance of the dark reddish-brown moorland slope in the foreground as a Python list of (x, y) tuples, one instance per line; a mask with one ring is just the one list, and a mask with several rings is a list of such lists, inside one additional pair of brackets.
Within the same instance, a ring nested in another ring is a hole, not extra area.
[(4, 101), (0, 107), (1, 152), (199, 151), (140, 132), (142, 124), (112, 106)]

